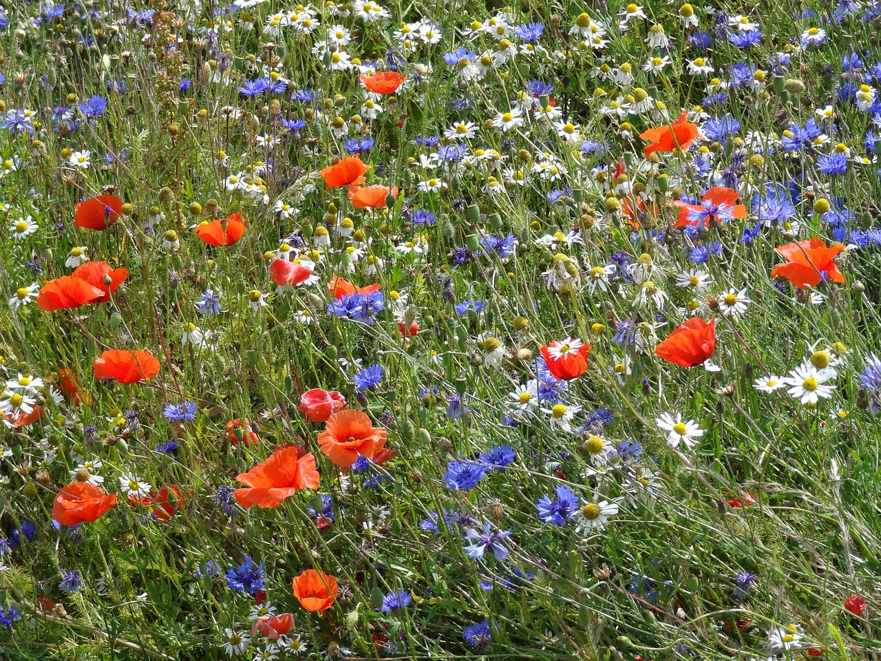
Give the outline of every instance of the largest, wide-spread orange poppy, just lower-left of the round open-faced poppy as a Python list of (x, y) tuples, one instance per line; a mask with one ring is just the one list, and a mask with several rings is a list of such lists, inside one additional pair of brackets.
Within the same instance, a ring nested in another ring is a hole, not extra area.
[(277, 508), (300, 489), (317, 489), (315, 457), (311, 452), (300, 455), (300, 451), (296, 446), (280, 449), (263, 464), (236, 475), (235, 479), (249, 488), (236, 489), (235, 500), (243, 508)]

